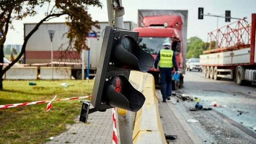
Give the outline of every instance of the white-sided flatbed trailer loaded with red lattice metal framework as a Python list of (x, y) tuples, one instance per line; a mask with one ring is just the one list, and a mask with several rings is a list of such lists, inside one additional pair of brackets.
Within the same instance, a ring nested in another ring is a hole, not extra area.
[(208, 34), (209, 49), (200, 55), (207, 78), (230, 78), (239, 85), (256, 82), (256, 14), (251, 18), (251, 24), (241, 19)]

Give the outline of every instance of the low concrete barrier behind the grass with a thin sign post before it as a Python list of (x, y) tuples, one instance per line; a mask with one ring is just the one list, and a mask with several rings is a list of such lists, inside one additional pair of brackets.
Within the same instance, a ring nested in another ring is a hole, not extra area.
[[(51, 71), (52, 71), (51, 67), (40, 67), (40, 79), (51, 80), (52, 79)], [(53, 79), (54, 80), (71, 79), (71, 67), (54, 67)]]

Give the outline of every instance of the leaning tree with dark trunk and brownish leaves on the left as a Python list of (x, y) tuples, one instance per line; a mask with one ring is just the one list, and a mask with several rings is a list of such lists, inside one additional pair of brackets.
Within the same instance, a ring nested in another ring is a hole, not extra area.
[[(66, 24), (69, 27), (67, 32), (69, 47), (76, 49), (78, 52), (82, 49), (88, 49), (86, 38), (91, 27), (100, 28), (98, 21), (92, 21), (91, 15), (88, 13), (88, 6), (101, 8), (99, 0), (0, 0), (0, 33), (2, 35), (0, 36), (0, 63), (3, 63), (3, 44), (9, 27), (12, 27), (11, 22), (14, 19), (20, 20), (27, 16), (35, 16), (37, 14), (36, 10), (45, 5), (48, 7), (45, 18), (41, 19), (27, 36), (24, 36), (20, 54), (4, 69), (0, 65), (0, 78), (25, 53), (27, 41), (37, 31), (38, 27), (52, 18), (65, 16)], [(0, 90), (2, 89), (2, 79), (0, 79)]]

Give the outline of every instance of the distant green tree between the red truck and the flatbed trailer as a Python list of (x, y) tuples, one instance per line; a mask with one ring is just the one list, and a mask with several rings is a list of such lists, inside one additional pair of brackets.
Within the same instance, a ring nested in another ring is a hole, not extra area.
[(198, 37), (193, 36), (188, 39), (187, 43), (187, 58), (199, 58), (199, 55), (202, 54), (205, 43)]

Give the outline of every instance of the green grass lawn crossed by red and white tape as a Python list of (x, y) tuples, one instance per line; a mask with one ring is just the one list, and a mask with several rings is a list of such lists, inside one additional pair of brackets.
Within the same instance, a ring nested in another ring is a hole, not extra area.
[[(0, 105), (38, 100), (91, 95), (93, 82), (81, 80), (42, 81), (29, 86), (29, 81), (3, 81)], [(61, 83), (68, 83), (62, 87)], [(63, 132), (80, 115), (79, 100), (55, 101), (46, 113), (46, 103), (0, 109), (0, 144), (42, 144)]]

